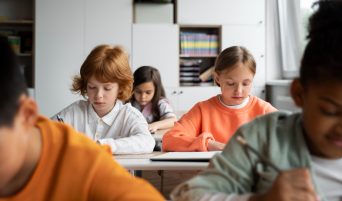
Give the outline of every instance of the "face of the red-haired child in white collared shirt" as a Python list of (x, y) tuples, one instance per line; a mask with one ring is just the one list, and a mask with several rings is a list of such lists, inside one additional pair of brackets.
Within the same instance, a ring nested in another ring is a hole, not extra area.
[(94, 77), (91, 77), (88, 81), (88, 100), (100, 117), (113, 109), (118, 94), (119, 84), (116, 82), (102, 83)]

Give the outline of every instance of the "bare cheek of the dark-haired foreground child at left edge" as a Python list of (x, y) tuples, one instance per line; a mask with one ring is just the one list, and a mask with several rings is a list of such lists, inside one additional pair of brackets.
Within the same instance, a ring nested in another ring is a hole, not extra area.
[(22, 127), (0, 127), (0, 191), (22, 168), (27, 148)]

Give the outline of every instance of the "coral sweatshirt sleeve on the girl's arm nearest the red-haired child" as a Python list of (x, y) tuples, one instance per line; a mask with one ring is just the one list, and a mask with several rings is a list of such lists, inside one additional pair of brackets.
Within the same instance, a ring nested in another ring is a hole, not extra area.
[(208, 151), (208, 140), (214, 137), (209, 132), (201, 133), (201, 121), (196, 104), (163, 136), (163, 151)]

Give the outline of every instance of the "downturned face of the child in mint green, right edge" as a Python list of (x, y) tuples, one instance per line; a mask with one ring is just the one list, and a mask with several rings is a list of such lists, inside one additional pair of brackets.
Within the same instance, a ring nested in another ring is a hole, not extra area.
[(310, 151), (326, 158), (341, 158), (342, 83), (310, 85), (302, 98), (303, 126)]

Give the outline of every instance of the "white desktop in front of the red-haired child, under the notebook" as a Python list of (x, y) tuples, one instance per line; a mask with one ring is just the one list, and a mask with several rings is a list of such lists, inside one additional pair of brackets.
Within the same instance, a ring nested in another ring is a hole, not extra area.
[(192, 161), (151, 161), (152, 156), (163, 152), (153, 152), (151, 154), (137, 155), (114, 155), (114, 159), (128, 170), (204, 170), (209, 162)]

